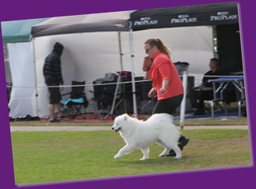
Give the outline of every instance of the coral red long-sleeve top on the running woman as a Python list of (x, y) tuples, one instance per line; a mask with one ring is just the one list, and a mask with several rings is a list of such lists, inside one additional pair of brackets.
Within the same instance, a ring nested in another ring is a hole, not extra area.
[[(159, 100), (182, 95), (183, 82), (180, 79), (179, 73), (172, 63), (171, 59), (158, 50), (152, 62), (150, 70), (150, 79), (152, 80), (152, 86), (156, 89), (157, 98)], [(163, 80), (169, 80), (168, 87), (164, 94), (160, 94), (160, 88), (162, 87)]]

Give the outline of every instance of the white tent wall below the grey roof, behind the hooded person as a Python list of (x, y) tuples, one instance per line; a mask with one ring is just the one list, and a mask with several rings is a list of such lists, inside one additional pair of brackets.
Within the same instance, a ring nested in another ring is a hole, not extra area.
[[(126, 32), (126, 35), (128, 35), (128, 32)], [(65, 94), (70, 91), (72, 80), (85, 80), (87, 84), (85, 93), (90, 100), (93, 98), (93, 94), (89, 91), (93, 91), (92, 82), (94, 80), (104, 78), (108, 72), (116, 73), (121, 70), (118, 38), (118, 32), (88, 32), (51, 35), (34, 39), (38, 107), (36, 107), (36, 104), (33, 107), (38, 111), (39, 116), (46, 117), (48, 115), (47, 87), (43, 78), (43, 63), (55, 42), (62, 43), (64, 46), (61, 60), (62, 76), (66, 87), (62, 93)], [(122, 57), (129, 57), (128, 53)], [(66, 98), (68, 97), (66, 96)], [(65, 96), (63, 96), (63, 99), (65, 99)], [(91, 103), (87, 111), (93, 109)]]

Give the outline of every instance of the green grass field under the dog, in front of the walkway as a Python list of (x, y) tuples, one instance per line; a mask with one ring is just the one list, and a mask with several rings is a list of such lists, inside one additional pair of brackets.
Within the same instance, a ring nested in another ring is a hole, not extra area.
[(114, 159), (124, 146), (114, 132), (12, 132), (15, 180), (48, 183), (251, 164), (248, 130), (198, 129), (183, 134), (190, 138), (183, 158), (160, 158), (164, 149), (152, 144), (150, 158), (139, 161), (141, 150)]

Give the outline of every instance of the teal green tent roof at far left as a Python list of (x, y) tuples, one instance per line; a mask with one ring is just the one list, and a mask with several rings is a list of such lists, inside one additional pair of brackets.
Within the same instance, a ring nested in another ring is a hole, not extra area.
[(32, 25), (39, 24), (44, 20), (47, 20), (47, 18), (2, 22), (3, 43), (28, 42), (31, 35)]

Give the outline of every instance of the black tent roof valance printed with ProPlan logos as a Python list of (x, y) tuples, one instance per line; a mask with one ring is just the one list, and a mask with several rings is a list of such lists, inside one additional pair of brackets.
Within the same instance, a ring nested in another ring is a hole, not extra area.
[(142, 9), (130, 14), (134, 31), (198, 25), (236, 24), (237, 2)]

